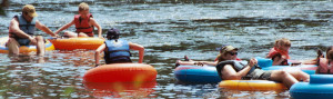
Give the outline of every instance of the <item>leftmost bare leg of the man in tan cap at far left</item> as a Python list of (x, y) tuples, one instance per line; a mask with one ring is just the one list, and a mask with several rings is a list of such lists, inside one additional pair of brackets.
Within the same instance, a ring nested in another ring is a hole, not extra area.
[(8, 53), (9, 55), (19, 55), (19, 42), (14, 38), (9, 38), (7, 42)]

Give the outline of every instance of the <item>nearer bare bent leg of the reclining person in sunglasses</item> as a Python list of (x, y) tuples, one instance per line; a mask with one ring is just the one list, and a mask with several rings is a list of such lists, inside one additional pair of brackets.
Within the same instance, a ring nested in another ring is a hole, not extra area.
[(287, 88), (299, 82), (299, 80), (295, 79), (291, 73), (283, 70), (273, 70), (271, 73), (271, 80), (282, 81)]

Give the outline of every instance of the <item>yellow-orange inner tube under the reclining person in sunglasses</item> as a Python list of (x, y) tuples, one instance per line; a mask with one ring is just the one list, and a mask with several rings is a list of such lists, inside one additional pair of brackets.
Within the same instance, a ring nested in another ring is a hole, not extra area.
[(248, 91), (287, 89), (281, 82), (269, 81), (269, 80), (223, 80), (219, 83), (219, 87), (224, 89), (230, 89), (230, 90), (248, 90)]

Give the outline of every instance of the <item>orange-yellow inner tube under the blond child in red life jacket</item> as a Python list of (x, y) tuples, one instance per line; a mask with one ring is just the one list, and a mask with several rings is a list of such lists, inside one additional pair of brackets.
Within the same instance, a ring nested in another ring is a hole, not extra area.
[(49, 39), (57, 50), (75, 50), (87, 49), (95, 50), (104, 43), (103, 39), (92, 37), (79, 37), (79, 38), (50, 38)]

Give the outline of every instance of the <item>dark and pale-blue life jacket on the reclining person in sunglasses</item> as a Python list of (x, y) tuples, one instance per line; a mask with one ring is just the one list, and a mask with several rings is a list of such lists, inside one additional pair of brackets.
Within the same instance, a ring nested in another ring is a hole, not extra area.
[[(219, 76), (220, 76), (220, 78), (221, 78), (222, 80), (223, 80), (223, 78), (222, 78), (221, 70), (223, 69), (223, 67), (224, 67), (225, 65), (231, 65), (232, 68), (233, 68), (236, 72), (239, 72), (239, 71), (243, 70), (245, 67), (248, 67), (248, 61), (226, 60), (226, 61), (221, 61), (220, 63), (218, 63), (216, 70), (218, 70), (218, 73), (219, 73)], [(248, 72), (248, 75), (251, 73), (251, 72), (253, 72), (255, 68), (256, 68), (256, 67), (252, 67), (251, 70)]]

